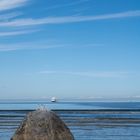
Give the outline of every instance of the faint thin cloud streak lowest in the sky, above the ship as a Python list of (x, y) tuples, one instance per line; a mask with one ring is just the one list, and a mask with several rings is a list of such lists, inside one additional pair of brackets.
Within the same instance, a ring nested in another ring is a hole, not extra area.
[(41, 71), (40, 74), (63, 74), (74, 76), (85, 76), (91, 78), (123, 78), (132, 75), (129, 72), (69, 72), (69, 71)]

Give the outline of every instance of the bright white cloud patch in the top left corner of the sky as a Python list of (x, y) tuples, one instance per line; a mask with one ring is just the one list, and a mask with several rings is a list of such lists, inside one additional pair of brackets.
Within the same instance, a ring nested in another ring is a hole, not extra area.
[(0, 0), (0, 11), (23, 6), (28, 0)]

